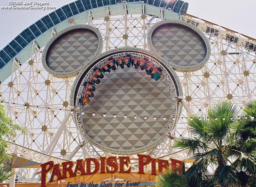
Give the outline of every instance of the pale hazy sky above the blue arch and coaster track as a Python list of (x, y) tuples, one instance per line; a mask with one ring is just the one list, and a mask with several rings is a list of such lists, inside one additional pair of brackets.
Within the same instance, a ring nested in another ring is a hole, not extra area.
[[(15, 1), (14, 1), (15, 2)], [(25, 0), (21, 1), (23, 4)], [(34, 2), (34, 0), (33, 0)], [(49, 3), (56, 9), (72, 0), (36, 0)], [(238, 33), (256, 38), (256, 0), (187, 0), (188, 14), (227, 27)], [(0, 6), (9, 6), (9, 0), (1, 0)], [(21, 31), (49, 14), (52, 10), (2, 10), (0, 9), (0, 49), (4, 48)]]

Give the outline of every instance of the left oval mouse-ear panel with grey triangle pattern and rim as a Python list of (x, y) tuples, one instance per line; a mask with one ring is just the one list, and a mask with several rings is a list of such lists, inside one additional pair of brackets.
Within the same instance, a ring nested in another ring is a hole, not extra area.
[(46, 44), (44, 68), (57, 77), (76, 75), (102, 49), (100, 32), (89, 25), (76, 25), (60, 31)]

